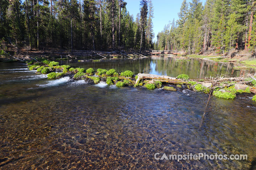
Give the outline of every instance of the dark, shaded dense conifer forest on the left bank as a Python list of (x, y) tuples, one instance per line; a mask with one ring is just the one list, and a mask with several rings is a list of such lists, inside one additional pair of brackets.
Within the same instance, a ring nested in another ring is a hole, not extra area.
[(153, 5), (133, 18), (124, 0), (1, 0), (0, 38), (16, 47), (143, 50), (153, 47)]

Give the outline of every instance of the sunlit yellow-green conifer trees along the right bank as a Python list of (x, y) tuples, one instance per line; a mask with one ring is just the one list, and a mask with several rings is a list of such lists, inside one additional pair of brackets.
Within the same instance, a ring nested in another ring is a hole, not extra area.
[(204, 6), (200, 0), (184, 0), (179, 19), (157, 35), (154, 48), (189, 54), (212, 49), (229, 56), (233, 48), (256, 52), (255, 9), (254, 0), (207, 0)]

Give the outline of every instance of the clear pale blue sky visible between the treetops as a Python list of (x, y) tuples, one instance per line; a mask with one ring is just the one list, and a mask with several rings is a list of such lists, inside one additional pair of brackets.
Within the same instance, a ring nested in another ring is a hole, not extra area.
[[(168, 24), (169, 21), (172, 22), (173, 18), (175, 21), (178, 19), (178, 12), (180, 12), (180, 7), (183, 0), (151, 0), (154, 7), (154, 33), (155, 39), (156, 35), (161, 32), (164, 28), (165, 24)], [(201, 0), (203, 5), (206, 0)], [(136, 19), (137, 13), (140, 11), (140, 0), (126, 0), (127, 5), (126, 8), (129, 11), (130, 15), (133, 14), (134, 20)], [(187, 2), (191, 2), (191, 0), (187, 0)]]

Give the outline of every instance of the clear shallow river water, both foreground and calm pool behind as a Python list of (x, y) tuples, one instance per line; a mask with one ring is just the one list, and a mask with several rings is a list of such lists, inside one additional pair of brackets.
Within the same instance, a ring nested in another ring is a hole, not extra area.
[[(154, 56), (62, 64), (192, 78), (254, 72)], [(0, 63), (0, 169), (250, 169), (256, 159), (251, 98), (212, 97), (202, 120), (207, 94), (48, 80), (25, 64)], [(177, 162), (155, 160), (156, 152), (247, 154), (248, 160)]]

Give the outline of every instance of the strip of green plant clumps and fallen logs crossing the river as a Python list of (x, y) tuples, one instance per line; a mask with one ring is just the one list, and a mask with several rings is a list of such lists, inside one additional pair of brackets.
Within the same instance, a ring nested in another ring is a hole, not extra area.
[[(47, 74), (48, 79), (59, 79), (68, 76), (74, 80), (93, 81), (95, 84), (101, 81), (108, 85), (123, 86), (143, 86), (153, 90), (162, 88), (164, 90), (176, 91), (193, 90), (213, 94), (216, 97), (224, 99), (234, 99), (236, 94), (256, 94), (256, 75), (246, 74), (241, 77), (233, 78), (215, 78), (213, 79), (190, 79), (186, 74), (180, 74), (176, 78), (168, 76), (159, 76), (154, 74), (134, 75), (132, 71), (126, 70), (122, 73), (117, 73), (115, 69), (94, 70), (93, 68), (71, 68), (69, 65), (59, 65), (59, 62), (42, 60), (28, 62), (30, 70), (37, 70), (37, 74)], [(256, 95), (252, 100), (256, 100)]]

